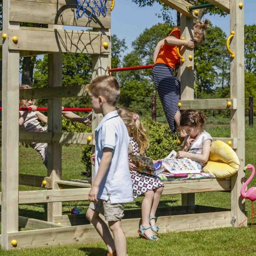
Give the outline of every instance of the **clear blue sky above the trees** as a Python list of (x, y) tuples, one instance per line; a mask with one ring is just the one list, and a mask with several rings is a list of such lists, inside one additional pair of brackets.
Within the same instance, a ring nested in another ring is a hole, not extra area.
[[(256, 23), (255, 10), (256, 0), (245, 0), (245, 24), (252, 25)], [(118, 39), (125, 39), (128, 46), (127, 52), (131, 50), (131, 42), (133, 42), (145, 28), (151, 28), (152, 25), (163, 22), (163, 19), (157, 18), (155, 14), (159, 14), (161, 7), (155, 4), (152, 7), (139, 8), (138, 5), (131, 0), (116, 0), (114, 9), (111, 13), (111, 33), (116, 34)], [(172, 12), (174, 20), (176, 20), (176, 11)], [(217, 25), (229, 35), (229, 15), (220, 17), (219, 15), (208, 16), (204, 18), (210, 19), (213, 25)]]

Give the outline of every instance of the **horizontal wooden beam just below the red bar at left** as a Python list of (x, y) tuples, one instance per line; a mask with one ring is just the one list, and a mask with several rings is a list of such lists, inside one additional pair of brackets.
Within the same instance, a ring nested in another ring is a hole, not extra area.
[[(87, 137), (92, 133), (32, 133), (29, 131), (20, 131), (20, 142), (42, 142), (59, 144), (81, 144), (92, 145), (93, 140), (88, 142)], [(0, 136), (0, 140), (1, 140)]]

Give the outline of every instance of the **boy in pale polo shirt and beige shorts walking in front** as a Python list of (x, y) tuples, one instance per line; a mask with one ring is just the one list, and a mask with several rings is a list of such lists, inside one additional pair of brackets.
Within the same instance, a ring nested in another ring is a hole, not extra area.
[[(91, 203), (86, 216), (103, 238), (107, 255), (126, 256), (122, 204), (133, 201), (133, 185), (128, 164), (130, 138), (116, 111), (120, 86), (113, 76), (99, 76), (90, 83), (89, 95), (93, 110), (104, 118), (95, 130), (95, 180), (88, 194)], [(108, 221), (114, 240), (99, 214)]]

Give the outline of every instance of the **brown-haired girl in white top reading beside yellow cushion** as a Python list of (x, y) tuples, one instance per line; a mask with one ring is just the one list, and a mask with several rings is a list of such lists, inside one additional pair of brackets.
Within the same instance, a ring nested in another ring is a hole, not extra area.
[(212, 136), (203, 130), (206, 116), (197, 110), (186, 110), (181, 114), (180, 129), (186, 133), (184, 147), (177, 152), (177, 158), (187, 157), (195, 161), (200, 169), (210, 155)]

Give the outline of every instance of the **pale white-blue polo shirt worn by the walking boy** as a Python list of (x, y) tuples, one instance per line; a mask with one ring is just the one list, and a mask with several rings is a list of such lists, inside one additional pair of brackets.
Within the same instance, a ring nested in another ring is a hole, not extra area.
[(95, 130), (95, 177), (104, 148), (113, 150), (110, 167), (101, 181), (97, 198), (110, 203), (127, 203), (133, 201), (133, 184), (131, 182), (128, 148), (129, 134), (117, 111), (110, 112), (101, 120)]

